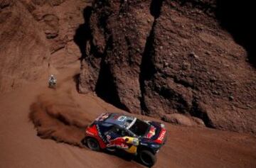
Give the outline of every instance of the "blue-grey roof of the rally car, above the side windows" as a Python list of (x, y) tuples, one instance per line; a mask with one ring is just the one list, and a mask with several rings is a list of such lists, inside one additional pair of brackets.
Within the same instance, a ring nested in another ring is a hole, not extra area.
[[(104, 113), (102, 114), (103, 116), (103, 123), (110, 123), (110, 124), (115, 124), (119, 125), (124, 128), (128, 128), (129, 125), (132, 124), (136, 120), (135, 117), (132, 116), (125, 116), (120, 113)], [(102, 117), (99, 117), (102, 118)]]

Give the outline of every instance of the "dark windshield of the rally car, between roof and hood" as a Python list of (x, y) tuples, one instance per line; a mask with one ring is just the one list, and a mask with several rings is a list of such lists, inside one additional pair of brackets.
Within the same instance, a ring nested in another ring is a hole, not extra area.
[(138, 136), (144, 136), (149, 130), (149, 124), (137, 119), (134, 124), (129, 128), (132, 133)]

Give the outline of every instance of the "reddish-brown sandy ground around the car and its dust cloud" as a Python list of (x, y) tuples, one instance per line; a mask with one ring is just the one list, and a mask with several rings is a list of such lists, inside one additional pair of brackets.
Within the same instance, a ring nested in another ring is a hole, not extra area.
[[(105, 110), (119, 112), (95, 96), (77, 93), (73, 81), (77, 63), (59, 70), (58, 90), (64, 93), (63, 101), (68, 91), (90, 118)], [(38, 95), (53, 92), (46, 87), (47, 75), (43, 78), (0, 96), (1, 167), (142, 167), (135, 161), (38, 138), (28, 113)], [(251, 135), (168, 123), (166, 127), (169, 139), (155, 167), (256, 167), (256, 138)]]

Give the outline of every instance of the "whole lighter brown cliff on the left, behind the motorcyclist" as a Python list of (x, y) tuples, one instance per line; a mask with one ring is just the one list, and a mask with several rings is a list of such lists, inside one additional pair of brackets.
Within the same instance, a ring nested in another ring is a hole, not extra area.
[(81, 56), (73, 38), (87, 1), (0, 0), (0, 93)]

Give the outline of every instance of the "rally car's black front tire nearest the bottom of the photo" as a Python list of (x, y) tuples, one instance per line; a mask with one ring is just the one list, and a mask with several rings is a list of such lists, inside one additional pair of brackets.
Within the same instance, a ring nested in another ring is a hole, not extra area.
[(139, 161), (146, 167), (152, 167), (156, 163), (156, 157), (149, 150), (142, 150), (139, 152)]

